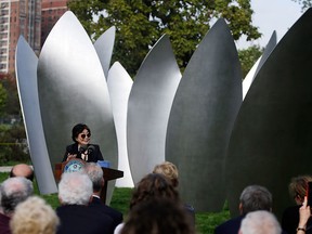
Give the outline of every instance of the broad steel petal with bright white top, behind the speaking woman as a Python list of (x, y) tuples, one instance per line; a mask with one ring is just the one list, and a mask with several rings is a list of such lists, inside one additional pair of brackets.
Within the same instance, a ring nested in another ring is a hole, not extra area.
[[(90, 38), (72, 12), (60, 18), (43, 44), (38, 89), (52, 167), (62, 160), (65, 146), (72, 143), (72, 128), (86, 122), (104, 159), (117, 168), (117, 138), (106, 79)], [(114, 186), (113, 182), (109, 186)], [(108, 200), (110, 196), (112, 188)]]

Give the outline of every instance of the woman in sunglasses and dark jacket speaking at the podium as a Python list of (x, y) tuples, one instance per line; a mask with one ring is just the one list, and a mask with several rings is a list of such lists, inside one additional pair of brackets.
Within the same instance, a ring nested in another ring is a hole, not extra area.
[(72, 130), (72, 139), (75, 143), (66, 146), (66, 152), (62, 161), (67, 161), (72, 158), (79, 158), (88, 162), (103, 160), (100, 146), (89, 143), (91, 131), (87, 125), (76, 125)]

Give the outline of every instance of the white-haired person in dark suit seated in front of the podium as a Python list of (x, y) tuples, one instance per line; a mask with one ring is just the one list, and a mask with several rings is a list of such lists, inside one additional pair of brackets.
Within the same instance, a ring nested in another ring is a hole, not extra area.
[(61, 225), (57, 234), (113, 233), (113, 220), (88, 205), (93, 193), (92, 182), (86, 173), (65, 172), (58, 184), (61, 206), (56, 208)]

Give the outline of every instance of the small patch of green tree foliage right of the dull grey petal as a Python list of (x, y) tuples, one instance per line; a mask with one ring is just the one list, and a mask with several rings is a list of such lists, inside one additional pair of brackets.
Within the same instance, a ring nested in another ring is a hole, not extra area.
[(262, 55), (263, 48), (252, 46), (247, 49), (238, 50), (238, 57), (242, 65), (243, 78), (246, 77), (257, 60)]

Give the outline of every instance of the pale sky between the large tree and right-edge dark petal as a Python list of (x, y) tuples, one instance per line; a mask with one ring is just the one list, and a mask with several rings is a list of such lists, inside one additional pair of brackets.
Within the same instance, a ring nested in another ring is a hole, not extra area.
[[(251, 0), (251, 8), (255, 11), (252, 23), (259, 27), (262, 34), (253, 44), (265, 47), (273, 30), (276, 30), (277, 41), (302, 15), (301, 6), (291, 0)], [(237, 43), (238, 49), (250, 47), (252, 43), (240, 39)]]

